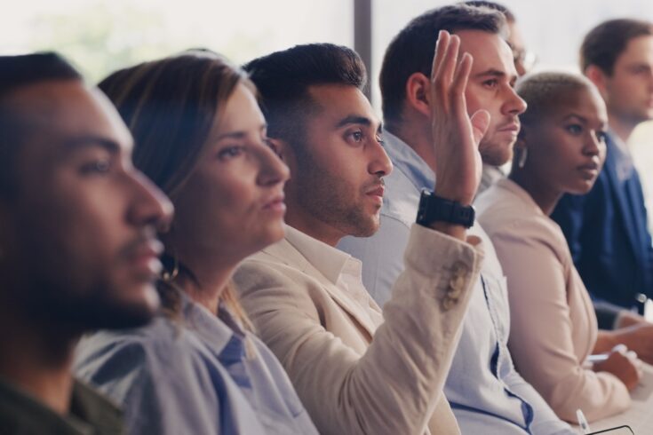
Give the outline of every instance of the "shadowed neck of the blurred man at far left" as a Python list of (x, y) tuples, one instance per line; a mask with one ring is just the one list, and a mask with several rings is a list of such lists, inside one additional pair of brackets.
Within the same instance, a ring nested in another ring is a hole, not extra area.
[(47, 323), (36, 325), (31, 316), (21, 316), (16, 310), (0, 312), (4, 331), (0, 335), (0, 378), (66, 415), (73, 388), (73, 352), (81, 334)]

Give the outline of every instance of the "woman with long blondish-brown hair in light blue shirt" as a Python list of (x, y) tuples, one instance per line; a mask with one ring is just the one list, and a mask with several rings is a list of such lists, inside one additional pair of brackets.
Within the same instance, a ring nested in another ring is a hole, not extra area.
[(118, 71), (100, 89), (176, 216), (161, 235), (164, 311), (145, 328), (85, 339), (77, 374), (125, 407), (131, 433), (316, 433), (229, 283), (244, 257), (283, 237), (289, 171), (267, 146), (253, 84), (192, 51)]

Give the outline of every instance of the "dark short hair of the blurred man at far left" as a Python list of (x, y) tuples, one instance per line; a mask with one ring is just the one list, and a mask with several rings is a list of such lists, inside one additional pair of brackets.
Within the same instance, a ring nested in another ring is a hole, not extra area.
[(7, 96), (21, 87), (55, 80), (82, 80), (82, 75), (54, 52), (0, 56), (0, 198), (16, 194), (16, 153), (32, 129), (29, 120), (12, 109)]

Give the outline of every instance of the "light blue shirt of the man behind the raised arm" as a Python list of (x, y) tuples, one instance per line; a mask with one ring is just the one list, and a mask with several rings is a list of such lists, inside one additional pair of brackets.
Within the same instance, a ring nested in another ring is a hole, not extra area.
[[(384, 139), (394, 170), (385, 178), (380, 229), (372, 237), (346, 237), (338, 244), (361, 259), (363, 283), (378, 305), (390, 298), (392, 284), (403, 270), (403, 251), (417, 217), (421, 189), (432, 189), (435, 183), (433, 170), (410, 146), (387, 131)], [(506, 280), (487, 234), (478, 225), (469, 233), (482, 238), (485, 258), (444, 388), (460, 430), (502, 435), (576, 433), (515, 371), (507, 348)]]

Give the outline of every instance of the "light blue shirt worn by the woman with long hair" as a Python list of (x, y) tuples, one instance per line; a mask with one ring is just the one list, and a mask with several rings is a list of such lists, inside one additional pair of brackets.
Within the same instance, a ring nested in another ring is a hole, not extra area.
[(76, 375), (124, 407), (130, 433), (317, 434), (291, 381), (227, 309), (182, 296), (182, 316), (84, 337)]

